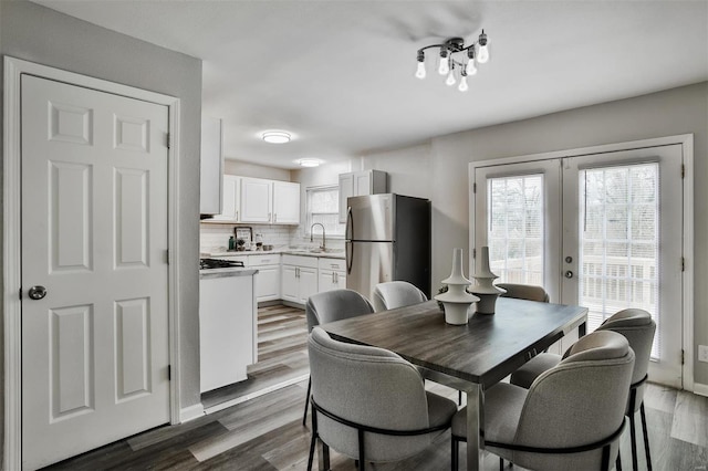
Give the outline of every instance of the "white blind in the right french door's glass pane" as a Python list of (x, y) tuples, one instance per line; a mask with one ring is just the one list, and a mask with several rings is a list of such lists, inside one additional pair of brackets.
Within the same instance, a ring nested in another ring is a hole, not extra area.
[[(659, 324), (659, 166), (586, 169), (580, 188), (580, 305), (587, 331), (623, 308), (649, 312)], [(660, 328), (652, 356), (658, 357)]]

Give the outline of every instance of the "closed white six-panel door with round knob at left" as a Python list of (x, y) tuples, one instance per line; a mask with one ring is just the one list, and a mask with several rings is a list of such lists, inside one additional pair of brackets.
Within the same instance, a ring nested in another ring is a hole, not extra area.
[(169, 421), (168, 108), (22, 76), (22, 463)]

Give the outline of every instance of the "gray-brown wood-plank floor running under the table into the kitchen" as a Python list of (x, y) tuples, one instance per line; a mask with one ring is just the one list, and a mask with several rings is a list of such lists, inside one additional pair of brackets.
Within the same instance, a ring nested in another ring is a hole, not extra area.
[[(290, 314), (299, 321), (287, 321)], [(262, 310), (263, 348), (270, 354), (260, 357), (263, 365), (253, 370), (253, 383), (262, 374), (261, 385), (272, 387), (282, 383), (272, 370), (283, 370), (291, 365), (305, 379), (274, 391), (258, 395), (256, 389), (246, 393), (253, 398), (219, 409), (215, 402), (212, 414), (196, 420), (165, 426), (97, 450), (54, 464), (56, 470), (304, 470), (308, 463), (310, 423), (302, 426), (302, 412), (306, 393), (306, 327), (304, 313), (289, 307), (274, 306)], [(261, 317), (261, 315), (259, 315)], [(260, 321), (259, 321), (260, 323)], [(300, 326), (295, 326), (300, 323)], [(280, 324), (279, 328), (277, 327)], [(272, 327), (272, 328), (271, 328)], [(292, 335), (287, 332), (292, 329)], [(298, 332), (299, 333), (295, 333)], [(260, 336), (260, 335), (259, 335)], [(295, 341), (299, 338), (299, 341)], [(280, 342), (279, 342), (280, 341)], [(259, 341), (260, 348), (261, 341)], [(277, 359), (274, 352), (290, 352), (290, 360)], [(302, 356), (305, 364), (302, 366)], [(260, 363), (260, 362), (259, 362)], [(272, 370), (271, 370), (272, 369)], [(258, 374), (257, 374), (258, 373)], [(291, 371), (287, 371), (291, 374)], [(267, 377), (274, 383), (269, 383)], [(450, 399), (457, 391), (427, 381), (428, 388)], [(254, 386), (258, 388), (258, 385)], [(233, 391), (231, 391), (233, 393)], [(243, 391), (228, 396), (227, 401), (243, 397)], [(220, 402), (221, 405), (226, 402)], [(657, 385), (648, 385), (645, 397), (649, 442), (655, 470), (696, 471), (708, 469), (708, 398), (678, 391)], [(308, 416), (309, 418), (310, 416)], [(637, 418), (637, 423), (638, 423)], [(447, 470), (450, 467), (450, 435), (444, 433), (427, 450), (397, 463), (371, 465), (381, 471)], [(629, 433), (622, 439), (624, 469), (632, 469)], [(646, 469), (644, 449), (639, 444), (639, 469)], [(332, 469), (355, 470), (354, 461), (332, 452)], [(466, 460), (460, 453), (460, 469)], [(316, 469), (316, 456), (315, 467)], [(487, 454), (485, 470), (498, 470), (499, 460)], [(522, 470), (519, 467), (507, 470)]]

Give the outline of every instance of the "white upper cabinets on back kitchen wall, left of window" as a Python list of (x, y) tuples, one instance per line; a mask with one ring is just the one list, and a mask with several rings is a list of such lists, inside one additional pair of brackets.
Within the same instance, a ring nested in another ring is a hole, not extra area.
[(221, 213), (202, 222), (300, 223), (300, 184), (223, 176)]

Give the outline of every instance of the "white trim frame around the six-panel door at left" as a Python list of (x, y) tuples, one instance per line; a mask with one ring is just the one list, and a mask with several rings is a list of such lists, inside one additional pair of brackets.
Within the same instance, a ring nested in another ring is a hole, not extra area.
[[(3, 328), (4, 328), (4, 459), (3, 469), (22, 468), (22, 349), (21, 349), (21, 75), (64, 82), (100, 92), (142, 100), (168, 108), (169, 143), (167, 150), (167, 211), (168, 251), (179, 253), (179, 211), (177, 211), (179, 181), (179, 113), (180, 100), (133, 86), (94, 78), (54, 69), (21, 59), (4, 56), (3, 111)], [(180, 421), (179, 375), (179, 270), (169, 257), (168, 265), (168, 342), (171, 379), (169, 384), (170, 422)]]

